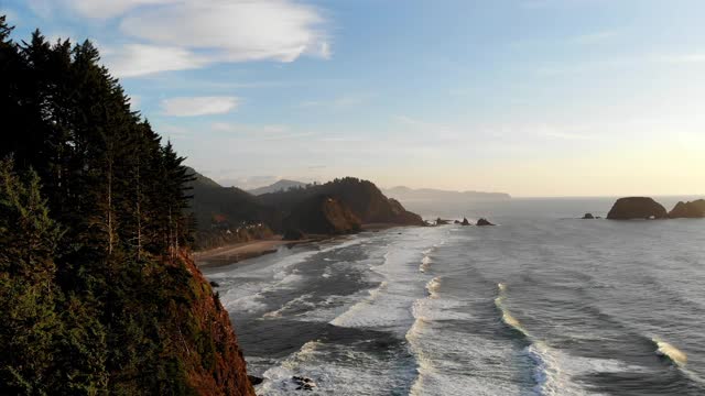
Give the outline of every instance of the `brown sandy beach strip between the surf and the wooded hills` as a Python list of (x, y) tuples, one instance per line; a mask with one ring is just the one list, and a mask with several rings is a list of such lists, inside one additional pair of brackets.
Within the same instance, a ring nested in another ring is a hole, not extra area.
[[(379, 232), (398, 227), (410, 227), (393, 223), (369, 223), (362, 224), (362, 232)], [(282, 235), (271, 239), (238, 242), (224, 246), (213, 248), (193, 253), (194, 262), (199, 268), (213, 268), (230, 264), (241, 263), (249, 258), (256, 258), (265, 254), (276, 253), (282, 246), (293, 248), (306, 243), (335, 240), (344, 235), (307, 235), (299, 241), (286, 241)]]

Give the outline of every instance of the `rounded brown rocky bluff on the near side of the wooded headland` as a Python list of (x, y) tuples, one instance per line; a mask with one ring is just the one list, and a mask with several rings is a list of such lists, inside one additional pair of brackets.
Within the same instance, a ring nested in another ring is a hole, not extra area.
[(360, 219), (345, 202), (326, 195), (300, 202), (284, 223), (288, 229), (310, 234), (338, 235), (361, 229)]

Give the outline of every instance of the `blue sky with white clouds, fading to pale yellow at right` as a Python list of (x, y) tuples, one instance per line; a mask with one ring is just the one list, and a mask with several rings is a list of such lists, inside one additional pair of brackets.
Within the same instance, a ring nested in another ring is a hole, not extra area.
[(702, 0), (0, 0), (230, 186), (705, 194)]

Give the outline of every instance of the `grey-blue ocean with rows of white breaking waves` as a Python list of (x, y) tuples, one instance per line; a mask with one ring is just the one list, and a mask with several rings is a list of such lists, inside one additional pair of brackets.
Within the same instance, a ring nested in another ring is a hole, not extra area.
[(577, 219), (612, 202), (406, 204), (498, 226), (365, 232), (204, 273), (261, 395), (705, 395), (705, 220)]

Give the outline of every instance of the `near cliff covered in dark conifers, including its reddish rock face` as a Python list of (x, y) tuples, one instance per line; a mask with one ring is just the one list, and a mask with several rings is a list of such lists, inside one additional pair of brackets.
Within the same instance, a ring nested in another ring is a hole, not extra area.
[(88, 41), (0, 18), (0, 394), (253, 394), (191, 176)]

